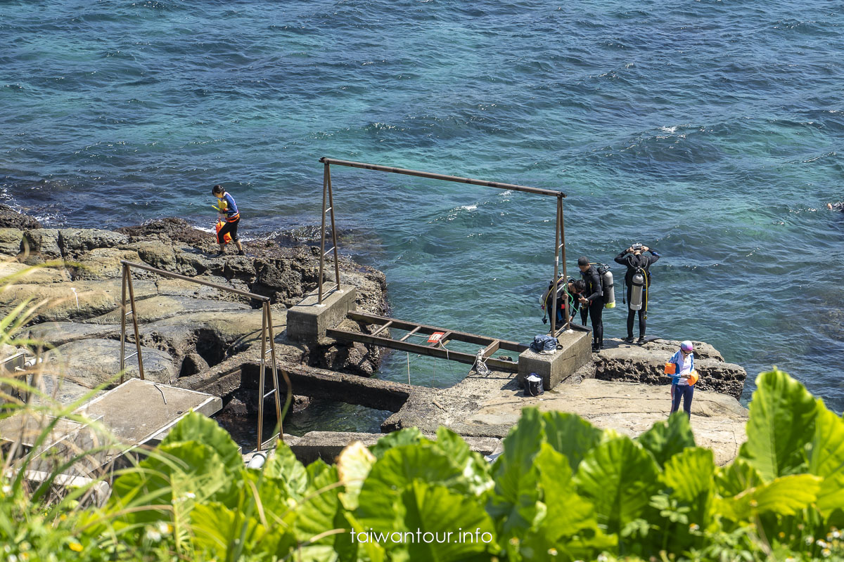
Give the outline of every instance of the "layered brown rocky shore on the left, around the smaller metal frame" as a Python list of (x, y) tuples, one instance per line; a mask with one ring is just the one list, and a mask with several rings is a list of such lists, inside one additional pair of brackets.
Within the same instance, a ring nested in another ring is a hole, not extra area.
[[(56, 229), (41, 228), (30, 217), (0, 207), (0, 254), (5, 256), (0, 275), (15, 281), (0, 293), (0, 313), (20, 302), (41, 303), (30, 335), (57, 347), (50, 364), (89, 388), (109, 381), (119, 362), (120, 262), (128, 260), (270, 297), (279, 360), (315, 361), (356, 374), (376, 370), (380, 355), (361, 345), (332, 342), (309, 350), (279, 341), (284, 340), (287, 307), (317, 286), (319, 249), (282, 247), (269, 240), (244, 245), (249, 255), (218, 257), (212, 235), (176, 218), (116, 232)], [(326, 271), (330, 281), (333, 267)], [(359, 308), (385, 313), (386, 282), (380, 271), (343, 259), (341, 281), (358, 288)], [(262, 312), (247, 297), (145, 270), (133, 270), (133, 289), (144, 374), (150, 380), (176, 383), (180, 376), (214, 370), (227, 358), (260, 346)], [(134, 338), (131, 318), (127, 315), (128, 342)], [(130, 355), (134, 345), (127, 345)], [(137, 372), (137, 359), (127, 361), (127, 368)]]

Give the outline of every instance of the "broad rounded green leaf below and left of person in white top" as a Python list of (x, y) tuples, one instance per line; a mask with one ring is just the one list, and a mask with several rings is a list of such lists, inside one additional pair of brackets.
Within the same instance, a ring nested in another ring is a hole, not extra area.
[(577, 490), (592, 500), (598, 522), (609, 533), (641, 517), (658, 490), (659, 467), (639, 443), (621, 436), (603, 442), (583, 458), (575, 475)]

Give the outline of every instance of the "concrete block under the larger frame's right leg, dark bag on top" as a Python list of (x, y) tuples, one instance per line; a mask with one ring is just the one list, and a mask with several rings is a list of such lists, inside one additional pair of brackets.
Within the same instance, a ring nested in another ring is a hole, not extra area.
[(557, 341), (562, 349), (553, 355), (543, 355), (532, 350), (522, 351), (519, 355), (517, 380), (523, 386), (524, 378), (532, 372), (542, 377), (545, 390), (571, 377), (574, 372), (592, 361), (592, 332), (567, 330), (560, 334)]

